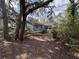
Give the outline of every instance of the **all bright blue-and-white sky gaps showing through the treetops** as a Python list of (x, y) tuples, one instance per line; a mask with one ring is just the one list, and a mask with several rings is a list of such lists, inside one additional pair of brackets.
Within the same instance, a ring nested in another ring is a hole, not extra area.
[[(5, 0), (5, 1), (7, 1), (7, 0)], [(38, 0), (31, 0), (31, 1), (35, 2), (35, 1), (38, 1)], [(60, 12), (63, 12), (64, 10), (67, 9), (67, 4), (68, 3), (69, 3), (69, 0), (54, 0), (54, 3), (50, 3), (49, 5), (54, 4), (56, 6), (56, 8), (54, 9), (54, 12), (55, 12), (56, 15), (58, 15)], [(19, 4), (18, 4), (18, 2), (17, 3), (12, 2), (12, 4), (14, 6), (14, 10), (19, 13)], [(64, 6), (62, 6), (62, 5), (64, 5)]]

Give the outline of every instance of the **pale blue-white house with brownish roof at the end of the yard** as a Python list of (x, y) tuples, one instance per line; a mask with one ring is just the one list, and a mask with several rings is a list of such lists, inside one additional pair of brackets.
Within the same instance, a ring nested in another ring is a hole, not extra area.
[[(47, 30), (51, 29), (51, 25), (48, 24), (41, 24), (41, 23), (34, 23), (27, 21), (27, 28), (32, 32), (47, 32)], [(28, 30), (27, 29), (27, 30)]]

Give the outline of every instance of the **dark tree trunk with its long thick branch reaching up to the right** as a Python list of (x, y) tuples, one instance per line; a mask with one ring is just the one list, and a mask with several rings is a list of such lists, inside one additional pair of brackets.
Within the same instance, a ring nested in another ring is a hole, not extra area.
[(28, 14), (30, 14), (31, 12), (33, 12), (34, 10), (40, 8), (40, 7), (44, 7), (46, 5), (48, 5), (50, 2), (52, 2), (53, 0), (48, 0), (45, 2), (34, 2), (34, 3), (29, 3), (25, 5), (25, 0), (20, 0), (21, 4), (22, 4), (22, 15), (23, 15), (23, 21), (21, 24), (21, 30), (20, 30), (20, 35), (19, 35), (19, 39), (22, 41), (23, 40), (23, 35), (24, 35), (24, 29), (25, 29), (25, 23), (26, 23), (26, 17)]

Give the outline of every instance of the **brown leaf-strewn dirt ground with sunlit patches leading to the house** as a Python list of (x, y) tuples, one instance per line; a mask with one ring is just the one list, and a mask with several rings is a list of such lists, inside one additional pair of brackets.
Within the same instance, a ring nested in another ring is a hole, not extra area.
[(23, 42), (0, 41), (0, 59), (79, 59), (48, 34), (29, 34)]

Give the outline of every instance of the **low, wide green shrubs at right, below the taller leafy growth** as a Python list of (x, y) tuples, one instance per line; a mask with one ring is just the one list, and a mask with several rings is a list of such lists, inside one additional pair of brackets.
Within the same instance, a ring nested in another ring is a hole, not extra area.
[(63, 40), (68, 47), (74, 48), (76, 41), (79, 39), (79, 21), (73, 25), (69, 24), (60, 24), (53, 28), (51, 33), (54, 38)]

